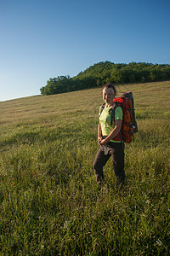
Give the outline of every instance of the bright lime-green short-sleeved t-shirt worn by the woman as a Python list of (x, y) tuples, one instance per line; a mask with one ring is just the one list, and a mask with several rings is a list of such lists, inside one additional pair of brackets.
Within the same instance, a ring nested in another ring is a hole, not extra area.
[[(108, 136), (110, 135), (111, 131), (115, 128), (114, 119), (111, 125), (110, 109), (113, 108), (113, 106), (110, 108), (106, 108), (105, 106), (101, 114), (100, 114), (100, 108), (99, 108), (99, 123), (101, 125), (102, 135)], [(119, 106), (115, 110), (115, 120), (122, 120), (122, 108)], [(111, 140), (111, 142), (121, 143), (121, 141), (113, 141), (113, 140)]]

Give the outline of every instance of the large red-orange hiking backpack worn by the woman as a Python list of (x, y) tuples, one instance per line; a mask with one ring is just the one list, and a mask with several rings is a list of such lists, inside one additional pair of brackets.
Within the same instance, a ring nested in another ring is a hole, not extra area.
[[(138, 125), (135, 120), (132, 91), (123, 92), (122, 96), (115, 98), (113, 102), (115, 102), (115, 106), (111, 108), (111, 125), (112, 120), (115, 120), (115, 110), (118, 106), (120, 106), (123, 112), (122, 128), (121, 134), (118, 134), (117, 138), (121, 137), (124, 143), (131, 143), (133, 134), (138, 132)], [(103, 108), (105, 108), (105, 103), (100, 109), (100, 113), (102, 112)]]

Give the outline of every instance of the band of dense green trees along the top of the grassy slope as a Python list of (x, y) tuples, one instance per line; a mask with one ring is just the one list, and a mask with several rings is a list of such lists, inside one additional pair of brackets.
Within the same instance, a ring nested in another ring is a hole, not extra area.
[(84, 72), (71, 78), (58, 76), (48, 79), (46, 86), (40, 89), (42, 95), (53, 95), (74, 90), (85, 90), (111, 84), (133, 84), (164, 81), (170, 79), (170, 65), (131, 62), (115, 64), (110, 61), (99, 62)]

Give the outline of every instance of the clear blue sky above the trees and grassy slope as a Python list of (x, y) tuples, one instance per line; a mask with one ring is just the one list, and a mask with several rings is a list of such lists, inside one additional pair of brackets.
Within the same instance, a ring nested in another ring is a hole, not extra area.
[(169, 0), (0, 0), (0, 101), (99, 61), (170, 64)]

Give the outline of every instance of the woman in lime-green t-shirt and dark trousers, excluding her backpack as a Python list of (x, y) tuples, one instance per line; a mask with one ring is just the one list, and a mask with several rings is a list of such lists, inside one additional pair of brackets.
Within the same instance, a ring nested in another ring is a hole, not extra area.
[[(98, 125), (99, 151), (94, 160), (94, 173), (97, 185), (100, 188), (104, 184), (103, 167), (106, 162), (112, 159), (116, 175), (116, 187), (122, 187), (125, 181), (124, 172), (124, 143), (122, 142), (122, 108), (115, 109), (115, 118), (111, 121), (111, 108), (114, 107), (113, 99), (116, 96), (116, 89), (113, 84), (105, 84), (103, 87), (103, 100), (105, 104), (100, 107)], [(102, 112), (101, 112), (101, 108)], [(112, 123), (112, 125), (111, 125)]]

